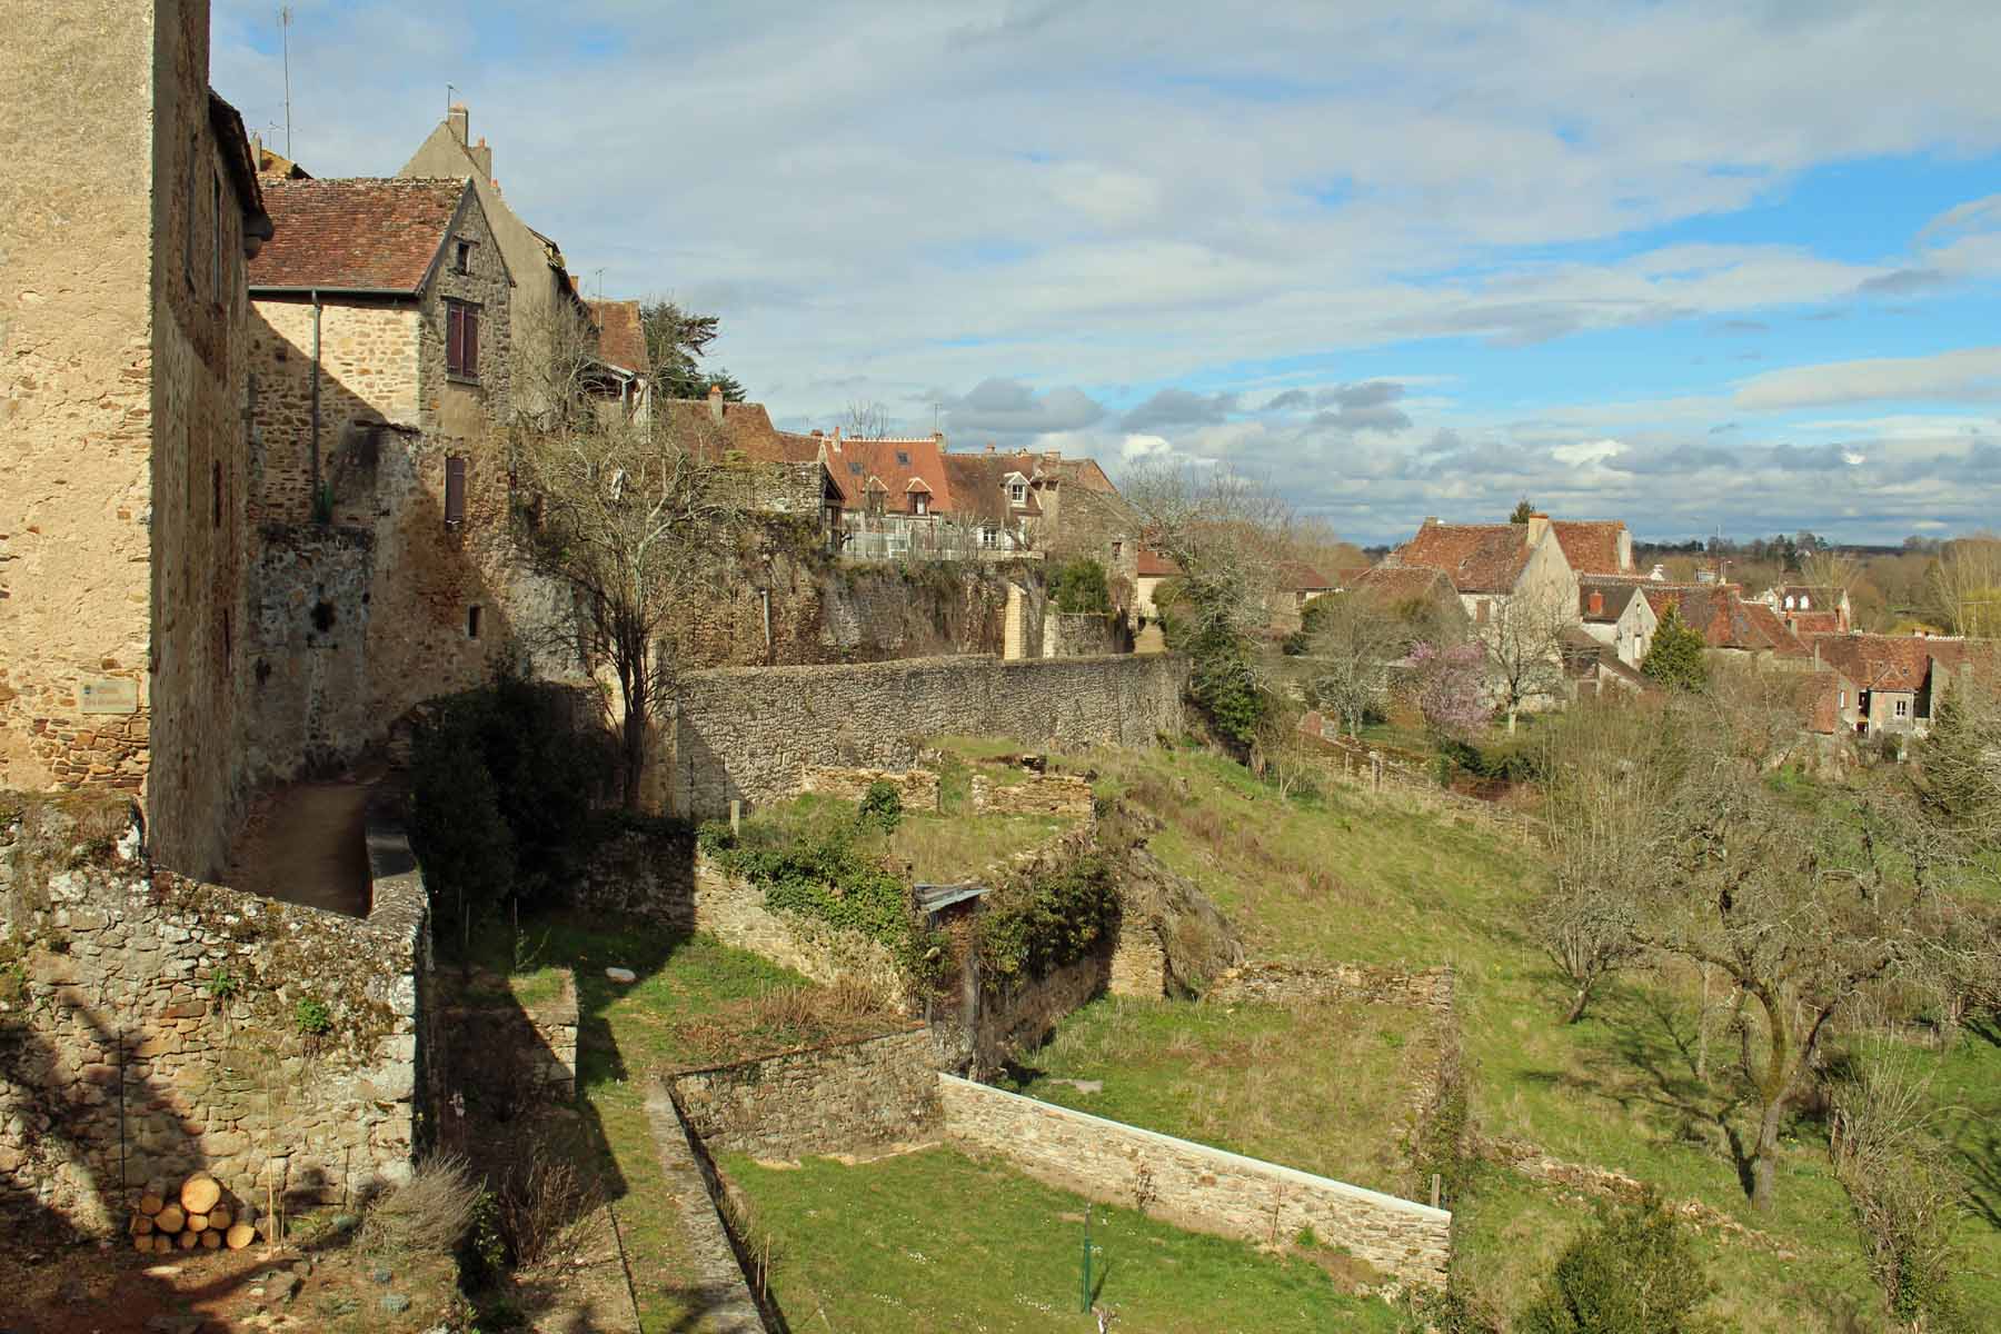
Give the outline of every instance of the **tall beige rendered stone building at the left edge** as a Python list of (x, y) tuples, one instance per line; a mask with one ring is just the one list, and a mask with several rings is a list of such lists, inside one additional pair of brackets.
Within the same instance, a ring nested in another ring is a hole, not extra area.
[(244, 258), (272, 226), (208, 4), (8, 14), (0, 788), (134, 792), (156, 856), (212, 872), (240, 798)]

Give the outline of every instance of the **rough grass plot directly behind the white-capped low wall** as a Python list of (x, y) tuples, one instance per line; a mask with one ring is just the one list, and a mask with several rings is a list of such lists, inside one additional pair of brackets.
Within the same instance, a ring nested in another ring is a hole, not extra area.
[(1439, 1046), (1395, 1004), (1105, 998), (1023, 1060), (1033, 1098), (1415, 1198), (1405, 1138)]

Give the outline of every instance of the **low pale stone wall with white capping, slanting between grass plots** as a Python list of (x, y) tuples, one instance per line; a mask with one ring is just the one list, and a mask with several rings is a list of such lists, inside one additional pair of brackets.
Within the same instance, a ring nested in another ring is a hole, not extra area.
[(1407, 1282), (1445, 1286), (1453, 1216), (1311, 1172), (1259, 1162), (950, 1074), (938, 1076), (944, 1134), (1065, 1190), (1201, 1232), (1285, 1242), (1313, 1228), (1329, 1246)]

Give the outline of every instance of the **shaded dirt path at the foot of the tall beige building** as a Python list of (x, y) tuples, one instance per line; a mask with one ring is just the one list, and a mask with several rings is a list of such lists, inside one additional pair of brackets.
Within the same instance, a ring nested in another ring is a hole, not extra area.
[(368, 798), (376, 776), (296, 782), (258, 798), (230, 850), (230, 888), (368, 914)]

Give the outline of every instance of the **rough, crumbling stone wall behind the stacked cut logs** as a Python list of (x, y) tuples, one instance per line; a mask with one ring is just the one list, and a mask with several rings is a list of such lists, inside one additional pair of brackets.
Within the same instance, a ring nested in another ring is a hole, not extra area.
[(350, 918), (152, 872), (126, 810), (8, 800), (0, 1208), (108, 1228), (194, 1168), (258, 1208), (408, 1174), (430, 938), (400, 836), (370, 828), (374, 906)]

